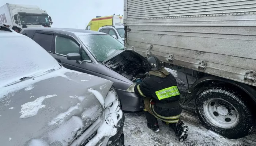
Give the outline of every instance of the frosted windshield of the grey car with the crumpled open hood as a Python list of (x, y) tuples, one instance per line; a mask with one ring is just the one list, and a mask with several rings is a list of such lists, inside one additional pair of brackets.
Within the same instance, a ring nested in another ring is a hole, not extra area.
[(110, 35), (80, 35), (79, 38), (100, 63), (114, 51), (124, 50), (124, 45)]

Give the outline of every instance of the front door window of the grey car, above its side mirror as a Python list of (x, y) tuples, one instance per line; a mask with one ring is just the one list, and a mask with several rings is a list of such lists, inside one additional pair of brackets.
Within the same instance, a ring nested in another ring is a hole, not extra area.
[(79, 46), (71, 39), (56, 36), (55, 53), (67, 55), (68, 53), (79, 53)]

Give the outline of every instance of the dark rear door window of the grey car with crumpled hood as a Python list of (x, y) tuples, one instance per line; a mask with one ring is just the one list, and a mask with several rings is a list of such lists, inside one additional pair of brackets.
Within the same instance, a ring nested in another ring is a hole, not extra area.
[(42, 46), (46, 51), (52, 50), (53, 35), (35, 33), (33, 40)]

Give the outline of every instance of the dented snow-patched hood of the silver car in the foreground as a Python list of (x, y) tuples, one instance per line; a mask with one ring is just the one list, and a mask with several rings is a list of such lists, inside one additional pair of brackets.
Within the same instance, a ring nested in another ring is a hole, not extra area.
[(69, 145), (102, 116), (112, 84), (61, 68), (0, 88), (0, 145)]

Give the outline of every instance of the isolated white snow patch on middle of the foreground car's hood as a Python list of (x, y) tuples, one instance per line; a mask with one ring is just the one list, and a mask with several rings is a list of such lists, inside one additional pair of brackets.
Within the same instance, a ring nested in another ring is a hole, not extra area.
[(20, 111), (20, 118), (29, 118), (31, 116), (35, 116), (37, 115), (37, 112), (39, 111), (39, 109), (44, 108), (45, 105), (42, 105), (42, 102), (47, 99), (47, 98), (51, 98), (51, 97), (55, 97), (57, 95), (47, 95), (47, 96), (41, 96), (37, 99), (35, 99), (34, 101), (25, 103), (23, 105), (21, 105), (21, 111)]

